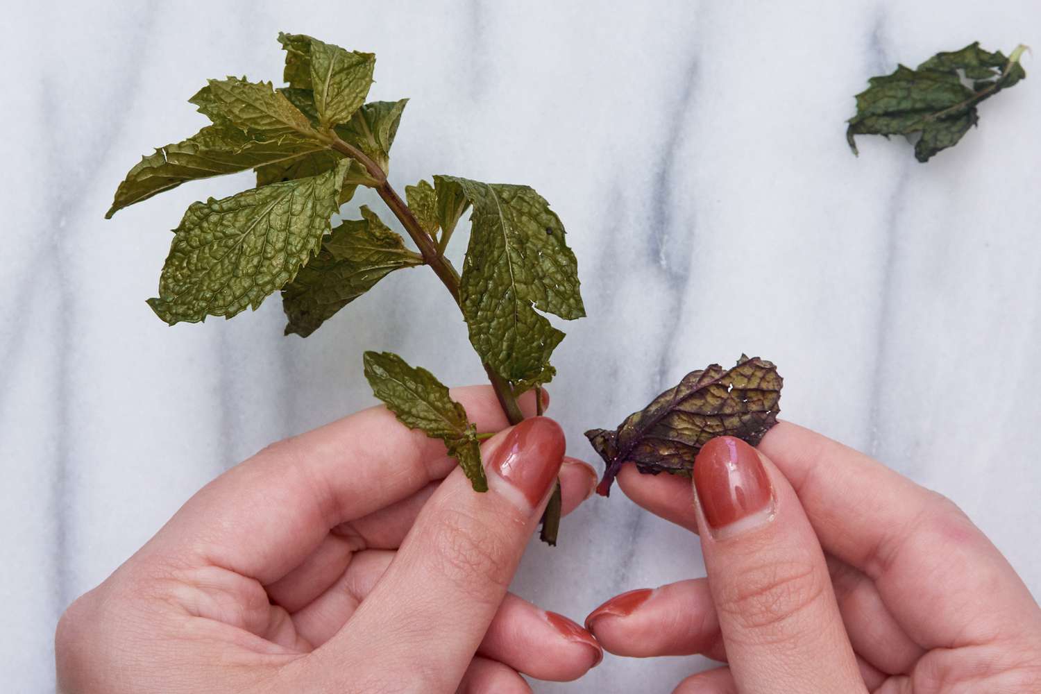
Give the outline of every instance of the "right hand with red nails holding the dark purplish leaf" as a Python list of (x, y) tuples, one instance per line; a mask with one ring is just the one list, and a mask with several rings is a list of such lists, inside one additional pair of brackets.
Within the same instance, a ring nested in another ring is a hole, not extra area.
[(725, 437), (690, 481), (639, 474), (634, 502), (702, 537), (707, 579), (611, 598), (586, 619), (620, 656), (729, 663), (678, 693), (1041, 692), (1041, 609), (941, 495), (781, 422)]

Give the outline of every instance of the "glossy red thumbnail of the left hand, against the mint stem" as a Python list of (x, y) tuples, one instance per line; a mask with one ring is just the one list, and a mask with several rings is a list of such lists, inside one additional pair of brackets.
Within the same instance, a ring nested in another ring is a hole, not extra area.
[(488, 461), (488, 469), (522, 492), (534, 508), (557, 479), (564, 445), (560, 425), (547, 417), (531, 417), (510, 430)]

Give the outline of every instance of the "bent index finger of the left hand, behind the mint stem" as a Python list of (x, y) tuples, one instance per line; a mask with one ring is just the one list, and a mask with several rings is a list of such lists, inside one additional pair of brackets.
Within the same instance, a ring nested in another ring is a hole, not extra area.
[[(452, 389), (478, 431), (509, 426), (490, 386)], [(534, 414), (534, 393), (519, 401)], [(374, 407), (275, 443), (203, 487), (139, 556), (219, 566), (270, 584), (339, 523), (401, 500), (452, 471), (445, 444)]]

